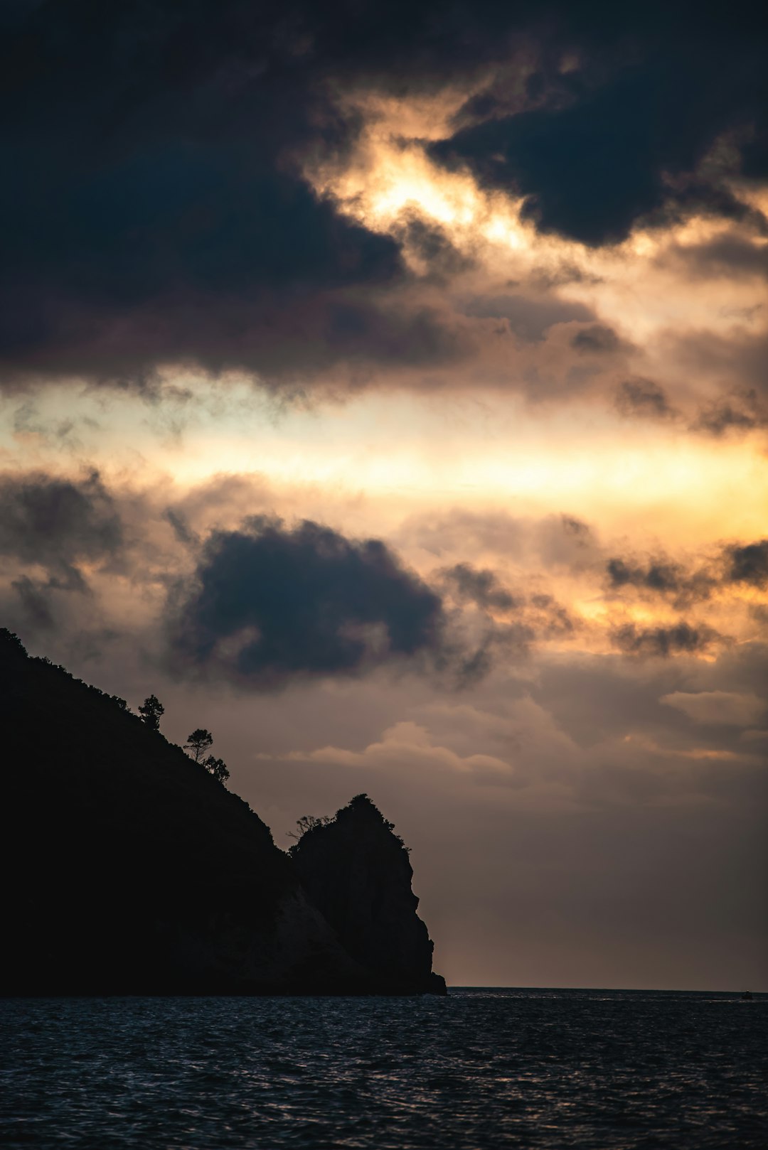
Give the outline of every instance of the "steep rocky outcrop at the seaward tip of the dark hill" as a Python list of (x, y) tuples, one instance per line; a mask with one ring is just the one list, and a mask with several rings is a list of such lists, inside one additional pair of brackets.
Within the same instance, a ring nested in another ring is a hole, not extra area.
[(290, 853), (312, 903), (360, 966), (393, 991), (444, 992), (416, 913), (408, 850), (366, 795), (306, 830)]

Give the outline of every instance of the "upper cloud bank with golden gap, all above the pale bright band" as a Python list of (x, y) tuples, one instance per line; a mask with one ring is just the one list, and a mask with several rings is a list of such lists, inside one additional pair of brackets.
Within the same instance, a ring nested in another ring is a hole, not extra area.
[[(291, 397), (471, 381), (683, 411), (705, 436), (765, 425), (750, 6), (727, 29), (708, 10), (649, 5), (628, 28), (602, 3), (485, 0), (2, 20), (6, 390), (152, 397), (180, 368)], [(616, 307), (633, 264), (649, 300), (691, 297), (651, 339)], [(729, 315), (708, 306), (724, 276)], [(694, 363), (702, 332), (720, 355)]]

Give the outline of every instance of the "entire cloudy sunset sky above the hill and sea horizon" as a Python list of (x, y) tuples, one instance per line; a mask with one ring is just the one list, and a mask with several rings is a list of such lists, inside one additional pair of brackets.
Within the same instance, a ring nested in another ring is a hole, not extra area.
[(0, 620), (449, 984), (768, 990), (761, 16), (2, 7)]

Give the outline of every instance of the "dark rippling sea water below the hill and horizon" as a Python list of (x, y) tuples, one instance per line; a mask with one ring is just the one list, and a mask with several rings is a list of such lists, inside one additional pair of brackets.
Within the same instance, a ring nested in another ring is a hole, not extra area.
[(0, 1145), (768, 1147), (768, 995), (0, 1002)]

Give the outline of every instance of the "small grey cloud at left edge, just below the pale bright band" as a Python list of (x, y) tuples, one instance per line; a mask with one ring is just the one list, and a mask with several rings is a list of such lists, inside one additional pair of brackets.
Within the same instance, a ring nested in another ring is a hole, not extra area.
[(98, 471), (79, 481), (0, 477), (0, 554), (47, 568), (50, 586), (83, 590), (76, 564), (114, 555), (122, 542), (115, 501)]

